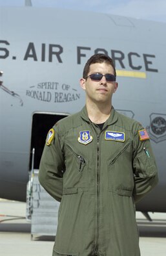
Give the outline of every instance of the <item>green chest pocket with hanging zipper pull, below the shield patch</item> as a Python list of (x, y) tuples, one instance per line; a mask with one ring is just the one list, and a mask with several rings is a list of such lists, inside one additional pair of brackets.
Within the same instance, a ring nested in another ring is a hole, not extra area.
[(67, 145), (65, 150), (65, 173), (63, 175), (63, 190), (65, 194), (78, 191), (73, 188), (88, 190), (88, 160), (83, 153)]

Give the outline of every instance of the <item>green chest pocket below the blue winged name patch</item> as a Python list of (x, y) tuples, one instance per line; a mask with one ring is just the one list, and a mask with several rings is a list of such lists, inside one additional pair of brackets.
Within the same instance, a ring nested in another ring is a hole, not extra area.
[(119, 196), (132, 196), (134, 188), (131, 147), (130, 142), (121, 146), (107, 162), (109, 191)]

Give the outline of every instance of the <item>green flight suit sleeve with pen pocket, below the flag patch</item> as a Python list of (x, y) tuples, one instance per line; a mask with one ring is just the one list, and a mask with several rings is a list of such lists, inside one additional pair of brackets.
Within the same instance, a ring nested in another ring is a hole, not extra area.
[[(143, 128), (140, 130), (143, 130)], [(135, 134), (135, 146), (133, 198), (135, 202), (138, 202), (158, 183), (158, 170), (150, 140), (141, 140), (139, 129)]]

